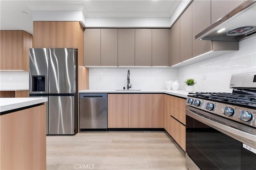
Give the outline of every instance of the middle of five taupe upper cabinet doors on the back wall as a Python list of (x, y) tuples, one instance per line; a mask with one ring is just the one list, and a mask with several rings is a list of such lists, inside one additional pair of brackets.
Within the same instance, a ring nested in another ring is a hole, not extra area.
[(118, 29), (118, 66), (135, 66), (135, 29)]

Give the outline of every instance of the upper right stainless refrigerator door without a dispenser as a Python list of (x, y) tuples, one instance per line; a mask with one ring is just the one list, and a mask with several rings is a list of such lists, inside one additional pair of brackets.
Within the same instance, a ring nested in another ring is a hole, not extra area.
[(76, 51), (71, 48), (50, 49), (49, 93), (76, 92)]

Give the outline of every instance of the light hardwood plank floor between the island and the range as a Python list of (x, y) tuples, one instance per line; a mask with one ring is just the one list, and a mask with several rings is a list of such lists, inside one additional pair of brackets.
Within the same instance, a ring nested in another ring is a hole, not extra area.
[(90, 131), (46, 142), (48, 170), (187, 170), (184, 151), (163, 131)]

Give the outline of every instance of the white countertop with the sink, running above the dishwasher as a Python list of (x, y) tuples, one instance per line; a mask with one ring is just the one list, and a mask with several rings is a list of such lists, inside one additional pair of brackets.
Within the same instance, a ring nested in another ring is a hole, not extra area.
[(80, 90), (79, 93), (165, 93), (182, 98), (188, 97), (186, 90)]

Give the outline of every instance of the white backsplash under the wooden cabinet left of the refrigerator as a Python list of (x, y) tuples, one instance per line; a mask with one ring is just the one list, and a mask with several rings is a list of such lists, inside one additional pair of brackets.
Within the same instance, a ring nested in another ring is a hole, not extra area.
[(28, 71), (0, 71), (0, 90), (24, 90), (28, 86)]

